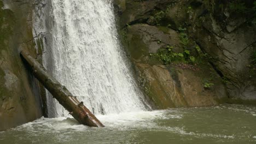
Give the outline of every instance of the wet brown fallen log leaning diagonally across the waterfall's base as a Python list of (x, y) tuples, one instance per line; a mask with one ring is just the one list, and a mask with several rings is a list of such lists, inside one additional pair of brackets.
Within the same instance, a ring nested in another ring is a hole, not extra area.
[(65, 86), (49, 75), (43, 65), (38, 63), (28, 52), (21, 51), (21, 57), (30, 65), (34, 76), (57, 101), (81, 124), (89, 127), (104, 127), (104, 125), (83, 104), (74, 97)]

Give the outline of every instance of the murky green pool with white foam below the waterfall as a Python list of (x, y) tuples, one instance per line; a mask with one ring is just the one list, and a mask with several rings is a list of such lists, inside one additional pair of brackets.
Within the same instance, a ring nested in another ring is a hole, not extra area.
[(73, 118), (40, 118), (0, 133), (0, 143), (256, 143), (256, 107), (220, 105), (97, 115), (90, 128)]

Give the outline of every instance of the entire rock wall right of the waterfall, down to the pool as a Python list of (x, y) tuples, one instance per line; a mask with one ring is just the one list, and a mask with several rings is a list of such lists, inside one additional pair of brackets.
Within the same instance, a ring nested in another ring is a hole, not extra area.
[[(119, 10), (119, 28), (125, 31), (123, 44), (136, 65), (142, 89), (158, 107), (206, 106), (231, 99), (256, 100), (256, 75), (252, 64), (256, 26), (251, 23), (251, 16), (229, 13), (226, 4), (228, 2), (126, 0), (126, 8)], [(182, 32), (189, 37), (187, 47), (182, 44), (180, 28), (185, 28)], [(191, 43), (199, 45), (207, 57), (203, 64), (197, 65), (200, 70), (173, 64), (159, 66), (160, 63), (150, 59), (149, 53), (157, 53), (166, 45), (174, 46), (174, 52), (178, 53), (191, 50)], [(171, 79), (170, 67), (176, 71), (176, 79)], [(215, 76), (210, 78), (210, 73)], [(203, 79), (214, 79), (214, 86), (205, 88)], [(174, 97), (179, 100), (173, 100)], [(231, 100), (232, 103), (242, 101)]]

